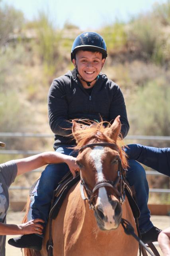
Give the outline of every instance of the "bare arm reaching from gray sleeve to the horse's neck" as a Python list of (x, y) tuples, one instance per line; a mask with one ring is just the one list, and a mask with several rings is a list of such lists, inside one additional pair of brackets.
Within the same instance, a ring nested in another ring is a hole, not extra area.
[(76, 158), (72, 156), (67, 156), (57, 152), (43, 152), (35, 156), (29, 156), (27, 158), (15, 160), (15, 162), (18, 168), (17, 175), (37, 169), (45, 164), (58, 164), (64, 162), (68, 165), (70, 171), (75, 177), (76, 170), (79, 170), (75, 160)]

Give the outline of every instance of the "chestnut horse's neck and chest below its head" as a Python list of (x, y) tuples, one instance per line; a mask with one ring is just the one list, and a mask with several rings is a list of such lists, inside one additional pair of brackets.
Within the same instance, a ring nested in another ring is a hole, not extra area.
[[(133, 214), (127, 200), (123, 204), (123, 218), (129, 220), (134, 226)], [(110, 256), (113, 255), (112, 251), (115, 248), (115, 255), (119, 253), (121, 256), (137, 256), (137, 243), (135, 244), (133, 237), (125, 234), (121, 226), (113, 231), (100, 230), (94, 211), (89, 209), (87, 200), (82, 200), (80, 183), (70, 189), (57, 218), (53, 220), (52, 236), (54, 256)], [(41, 250), (43, 256), (47, 255), (46, 242), (48, 239), (47, 226), (43, 250)], [(131, 244), (133, 244), (133, 249), (131, 249)]]

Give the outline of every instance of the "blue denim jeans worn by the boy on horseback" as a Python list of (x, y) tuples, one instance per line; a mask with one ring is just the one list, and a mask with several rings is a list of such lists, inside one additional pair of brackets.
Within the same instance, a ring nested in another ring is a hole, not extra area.
[[(69, 155), (72, 149), (68, 149), (68, 145), (62, 145), (57, 148), (56, 152)], [(127, 180), (129, 184), (135, 186), (137, 203), (141, 211), (139, 218), (139, 227), (141, 233), (147, 232), (152, 228), (150, 222), (150, 211), (147, 207), (149, 187), (146, 179), (144, 168), (135, 160), (129, 160), (130, 168), (127, 171)], [(47, 224), (49, 217), (49, 208), (53, 197), (53, 190), (57, 187), (58, 182), (63, 176), (69, 172), (67, 164), (49, 164), (41, 174), (39, 185), (37, 188), (37, 196), (35, 201), (31, 203), (32, 218), (42, 218)]]

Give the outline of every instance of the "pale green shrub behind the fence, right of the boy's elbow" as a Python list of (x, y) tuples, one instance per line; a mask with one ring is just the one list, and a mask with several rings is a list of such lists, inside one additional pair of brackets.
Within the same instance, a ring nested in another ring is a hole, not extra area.
[(130, 134), (169, 136), (170, 86), (157, 78), (140, 87), (127, 100)]

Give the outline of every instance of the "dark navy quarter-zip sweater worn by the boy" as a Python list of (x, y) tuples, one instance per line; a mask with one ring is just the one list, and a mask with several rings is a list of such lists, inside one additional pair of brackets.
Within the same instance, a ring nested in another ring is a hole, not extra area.
[[(54, 148), (60, 144), (75, 144), (71, 134), (72, 119), (111, 122), (118, 115), (121, 133), (129, 131), (126, 106), (121, 89), (106, 75), (100, 74), (91, 95), (84, 89), (75, 70), (53, 80), (48, 95), (49, 124), (55, 134)], [(64, 128), (69, 128), (65, 130)]]

